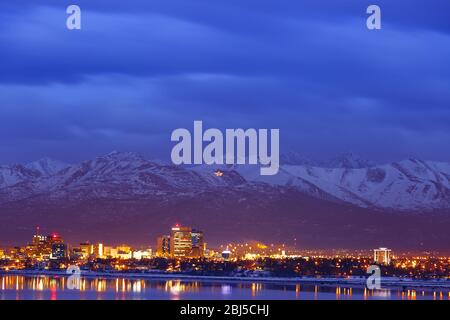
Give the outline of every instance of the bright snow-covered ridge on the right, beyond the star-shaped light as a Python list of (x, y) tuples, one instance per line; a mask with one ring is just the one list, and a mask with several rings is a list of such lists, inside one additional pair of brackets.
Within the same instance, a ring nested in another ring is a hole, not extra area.
[[(369, 207), (423, 210), (450, 207), (450, 164), (409, 159), (360, 169), (282, 167), (274, 177), (244, 177), (311, 193), (311, 185), (338, 199)], [(309, 183), (305, 188), (305, 182)]]

